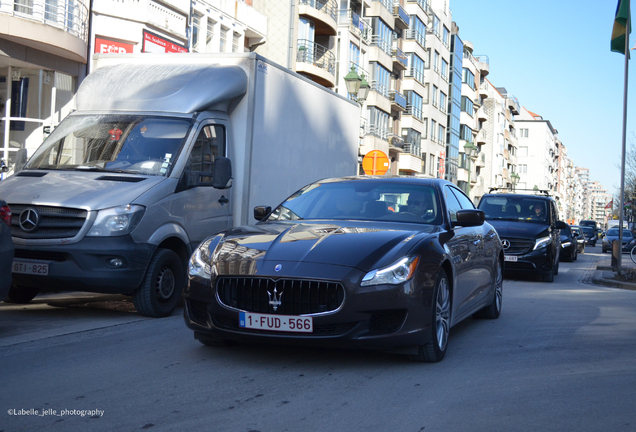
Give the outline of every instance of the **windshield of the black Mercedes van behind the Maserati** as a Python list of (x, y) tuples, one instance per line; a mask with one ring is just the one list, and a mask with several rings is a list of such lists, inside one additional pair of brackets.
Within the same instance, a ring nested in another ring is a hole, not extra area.
[(523, 220), (547, 222), (548, 202), (532, 197), (486, 196), (479, 202), (479, 209), (486, 219)]

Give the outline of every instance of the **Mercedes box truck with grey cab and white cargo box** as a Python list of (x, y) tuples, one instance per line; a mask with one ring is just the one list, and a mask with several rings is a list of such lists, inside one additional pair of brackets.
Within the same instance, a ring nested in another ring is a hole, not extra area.
[(0, 182), (9, 299), (177, 306), (192, 250), (315, 180), (357, 174), (357, 104), (254, 53), (96, 55), (70, 114)]

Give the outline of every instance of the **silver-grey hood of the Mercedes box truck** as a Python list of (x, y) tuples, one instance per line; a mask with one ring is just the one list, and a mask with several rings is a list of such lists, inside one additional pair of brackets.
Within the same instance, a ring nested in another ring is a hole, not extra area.
[(0, 195), (9, 204), (100, 210), (133, 203), (165, 180), (160, 176), (108, 172), (21, 171), (0, 182)]

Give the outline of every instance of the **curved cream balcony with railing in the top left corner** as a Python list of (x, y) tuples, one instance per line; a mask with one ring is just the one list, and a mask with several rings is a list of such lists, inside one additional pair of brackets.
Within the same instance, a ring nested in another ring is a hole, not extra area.
[(86, 63), (88, 7), (85, 0), (0, 2), (3, 37), (62, 58)]

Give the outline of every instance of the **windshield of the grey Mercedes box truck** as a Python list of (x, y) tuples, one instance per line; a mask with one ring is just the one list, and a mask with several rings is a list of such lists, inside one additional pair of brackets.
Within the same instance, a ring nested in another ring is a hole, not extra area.
[(190, 119), (181, 118), (71, 116), (44, 141), (25, 168), (165, 176), (191, 125)]

